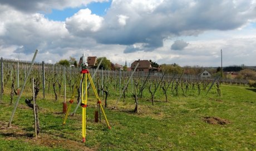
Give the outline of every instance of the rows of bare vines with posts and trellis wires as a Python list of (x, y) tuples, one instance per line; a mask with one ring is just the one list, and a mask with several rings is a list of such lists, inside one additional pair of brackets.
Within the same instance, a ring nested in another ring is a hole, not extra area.
[[(24, 78), (26, 77), (30, 62), (1, 59), (1, 97), (2, 93), (10, 94), (10, 103), (13, 103), (13, 95), (19, 93)], [(168, 102), (168, 96), (172, 95), (202, 95), (211, 93), (221, 95), (220, 80), (216, 78), (200, 78), (194, 75), (177, 75), (165, 73), (144, 73), (128, 71), (105, 71), (99, 69), (89, 69), (94, 85), (102, 99), (112, 96), (125, 101), (127, 97), (134, 97), (135, 103), (138, 98), (150, 100), (152, 105), (157, 99)], [(129, 78), (131, 80), (129, 81)], [(32, 78), (35, 79), (35, 87), (41, 90), (42, 97), (52, 96), (53, 100), (62, 99), (66, 90), (67, 97), (74, 91), (80, 94), (80, 87), (75, 87), (75, 83), (80, 78), (80, 68), (63, 67), (56, 64), (34, 63), (29, 80), (26, 85), (31, 85)], [(226, 84), (248, 84), (246, 80), (221, 79), (221, 83)], [(27, 86), (28, 87), (28, 86)], [(93, 93), (88, 87), (88, 95)], [(77, 101), (80, 95), (77, 96)], [(137, 103), (136, 103), (137, 104)], [(105, 103), (105, 107), (107, 104)], [(136, 105), (137, 107), (137, 105)], [(135, 112), (136, 112), (135, 107)]]

